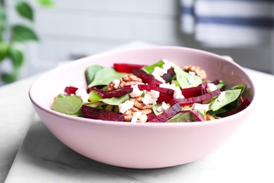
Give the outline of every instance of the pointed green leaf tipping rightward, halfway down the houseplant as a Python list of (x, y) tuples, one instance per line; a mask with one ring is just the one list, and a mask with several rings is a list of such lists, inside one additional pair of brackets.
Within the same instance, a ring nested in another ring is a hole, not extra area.
[(38, 41), (37, 34), (25, 25), (14, 25), (12, 29), (12, 38), (15, 42)]

